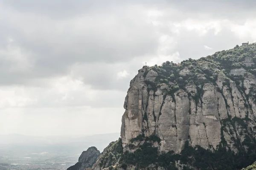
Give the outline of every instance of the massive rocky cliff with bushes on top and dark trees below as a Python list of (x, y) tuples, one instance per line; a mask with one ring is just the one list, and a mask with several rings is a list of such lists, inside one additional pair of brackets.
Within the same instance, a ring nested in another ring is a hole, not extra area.
[(255, 101), (255, 43), (179, 64), (144, 66), (125, 97), (116, 167), (93, 167), (246, 167), (256, 160)]

